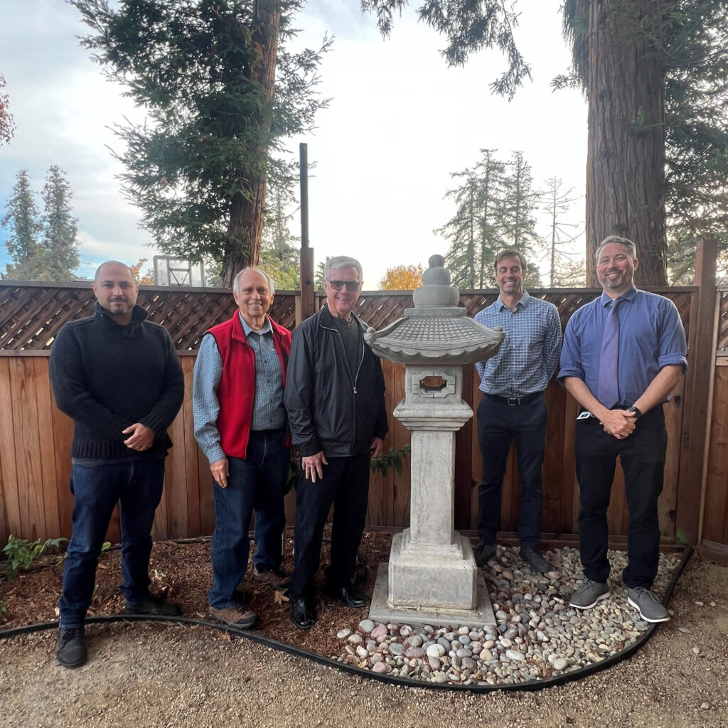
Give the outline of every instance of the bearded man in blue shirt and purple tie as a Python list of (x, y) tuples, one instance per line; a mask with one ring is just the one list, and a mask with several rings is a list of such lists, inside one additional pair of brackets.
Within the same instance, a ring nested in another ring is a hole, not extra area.
[(558, 379), (581, 405), (575, 449), (585, 577), (570, 604), (590, 609), (609, 596), (606, 510), (620, 456), (630, 512), (622, 572), (628, 603), (647, 622), (665, 622), (668, 612), (651, 591), (667, 446), (662, 403), (687, 368), (687, 346), (675, 304), (635, 288), (637, 266), (631, 240), (607, 237), (596, 250), (603, 293), (582, 306), (564, 332)]

